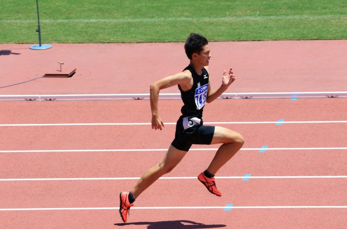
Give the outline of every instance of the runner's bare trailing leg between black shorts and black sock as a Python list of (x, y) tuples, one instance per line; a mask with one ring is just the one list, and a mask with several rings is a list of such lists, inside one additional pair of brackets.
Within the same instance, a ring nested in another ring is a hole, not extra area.
[(164, 159), (159, 164), (148, 169), (136, 182), (135, 187), (131, 190), (133, 197), (136, 199), (161, 176), (169, 173), (182, 160), (186, 153), (187, 151), (176, 149), (174, 146), (170, 145)]

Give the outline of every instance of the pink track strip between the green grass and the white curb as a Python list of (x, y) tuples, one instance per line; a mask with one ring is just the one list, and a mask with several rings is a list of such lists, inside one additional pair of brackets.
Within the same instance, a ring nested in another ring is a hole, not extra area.
[[(64, 62), (63, 73), (77, 68), (76, 74), (3, 88), (0, 95), (148, 93), (151, 83), (182, 71), (188, 63), (183, 43), (28, 47), (0, 44), (0, 87), (58, 73), (57, 61)], [(234, 68), (237, 81), (230, 93), (346, 91), (346, 40), (211, 42), (210, 47), (212, 85), (220, 85), (224, 69)]]

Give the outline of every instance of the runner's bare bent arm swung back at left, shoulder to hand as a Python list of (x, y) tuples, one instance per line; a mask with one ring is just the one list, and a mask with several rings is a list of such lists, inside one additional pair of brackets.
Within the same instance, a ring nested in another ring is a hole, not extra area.
[(158, 100), (159, 91), (174, 85), (181, 85), (181, 87), (189, 87), (192, 76), (187, 72), (179, 72), (175, 75), (165, 77), (150, 86), (150, 103), (152, 111), (152, 129), (162, 129), (166, 127), (164, 122), (159, 117)]

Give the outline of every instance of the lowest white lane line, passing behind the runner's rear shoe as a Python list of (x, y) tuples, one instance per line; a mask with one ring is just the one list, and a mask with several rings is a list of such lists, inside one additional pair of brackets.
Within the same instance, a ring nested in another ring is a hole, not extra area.
[[(201, 207), (132, 207), (131, 209), (341, 209), (347, 206), (201, 206)], [(101, 208), (5, 208), (0, 211), (61, 211), (61, 210), (119, 210), (119, 207)]]

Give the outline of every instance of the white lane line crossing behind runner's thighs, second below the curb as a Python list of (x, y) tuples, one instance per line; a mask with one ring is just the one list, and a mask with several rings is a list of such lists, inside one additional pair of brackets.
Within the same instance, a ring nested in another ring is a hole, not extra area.
[[(213, 151), (218, 148), (192, 148), (190, 151)], [(266, 150), (340, 150), (347, 147), (309, 147), (309, 148), (266, 148)], [(264, 150), (264, 148), (241, 148), (240, 150)], [(0, 153), (54, 153), (54, 152), (152, 152), (167, 149), (52, 149), (52, 150), (0, 150)]]

